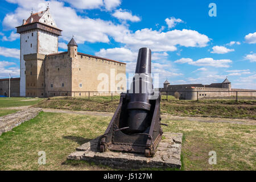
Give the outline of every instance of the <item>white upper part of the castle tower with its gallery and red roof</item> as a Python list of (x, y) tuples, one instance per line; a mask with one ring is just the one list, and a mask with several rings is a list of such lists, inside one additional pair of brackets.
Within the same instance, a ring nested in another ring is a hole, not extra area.
[(20, 96), (26, 96), (26, 67), (23, 56), (31, 53), (57, 53), (58, 37), (62, 30), (57, 28), (48, 7), (44, 11), (31, 13), (16, 28), (20, 34)]

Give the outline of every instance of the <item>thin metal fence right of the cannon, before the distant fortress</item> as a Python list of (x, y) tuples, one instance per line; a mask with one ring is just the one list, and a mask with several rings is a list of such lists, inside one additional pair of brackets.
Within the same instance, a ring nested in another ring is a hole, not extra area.
[(163, 100), (171, 99), (168, 96), (174, 96), (179, 100), (256, 100), (256, 91), (231, 90), (231, 91), (215, 91), (215, 90), (176, 90), (160, 92)]

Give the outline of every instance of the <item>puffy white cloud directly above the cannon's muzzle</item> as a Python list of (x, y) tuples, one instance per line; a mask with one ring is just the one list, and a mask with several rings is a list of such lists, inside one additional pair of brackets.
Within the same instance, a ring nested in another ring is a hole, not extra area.
[(195, 30), (172, 30), (160, 32), (151, 28), (137, 30), (135, 33), (128, 32), (115, 38), (116, 42), (126, 44), (126, 47), (138, 50), (141, 47), (150, 47), (156, 51), (176, 51), (177, 45), (185, 47), (205, 47), (210, 41), (208, 36)]

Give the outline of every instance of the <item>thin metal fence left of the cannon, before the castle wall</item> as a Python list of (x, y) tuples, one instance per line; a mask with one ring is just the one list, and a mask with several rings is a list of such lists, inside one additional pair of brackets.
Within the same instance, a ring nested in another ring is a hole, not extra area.
[(94, 97), (94, 96), (119, 96), (122, 92), (97, 92), (97, 91), (48, 91), (48, 97), (69, 96), (69, 97)]

